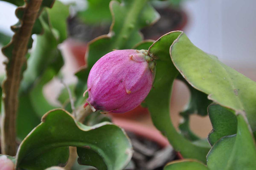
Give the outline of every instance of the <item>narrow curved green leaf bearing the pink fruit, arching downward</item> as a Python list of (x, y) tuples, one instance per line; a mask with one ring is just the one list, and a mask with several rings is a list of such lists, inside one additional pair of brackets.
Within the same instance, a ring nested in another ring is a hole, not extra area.
[(179, 72), (171, 62), (169, 49), (173, 41), (182, 33), (181, 31), (174, 31), (165, 34), (149, 48), (150, 55), (157, 58), (157, 65), (154, 88), (146, 98), (146, 104), (154, 125), (168, 138), (175, 150), (180, 151), (184, 158), (206, 162), (205, 157), (210, 148), (191, 143), (175, 130), (170, 118), (171, 88)]

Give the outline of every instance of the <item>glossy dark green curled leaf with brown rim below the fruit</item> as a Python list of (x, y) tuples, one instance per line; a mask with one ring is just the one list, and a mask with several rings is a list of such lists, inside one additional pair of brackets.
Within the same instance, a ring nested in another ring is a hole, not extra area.
[[(42, 123), (22, 141), (15, 167), (43, 169), (64, 166), (63, 161), (68, 158), (64, 150), (68, 146), (77, 147), (80, 163), (103, 166), (97, 165), (101, 158), (109, 170), (124, 168), (132, 155), (130, 141), (118, 126), (108, 122), (85, 126), (65, 110), (56, 109), (46, 113)], [(86, 160), (88, 157), (91, 162)]]

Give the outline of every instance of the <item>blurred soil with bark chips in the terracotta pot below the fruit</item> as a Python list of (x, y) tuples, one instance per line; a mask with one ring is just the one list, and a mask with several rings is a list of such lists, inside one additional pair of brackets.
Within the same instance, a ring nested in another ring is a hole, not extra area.
[(134, 150), (131, 162), (125, 170), (162, 170), (173, 160), (179, 159), (171, 146), (162, 148), (152, 140), (127, 132)]

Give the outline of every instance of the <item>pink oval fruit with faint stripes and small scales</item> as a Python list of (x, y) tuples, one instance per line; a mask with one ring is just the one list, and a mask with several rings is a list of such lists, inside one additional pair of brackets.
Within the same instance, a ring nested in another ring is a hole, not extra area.
[(134, 109), (152, 88), (152, 62), (155, 64), (146, 50), (116, 50), (104, 55), (89, 73), (87, 103), (93, 111), (124, 113)]

